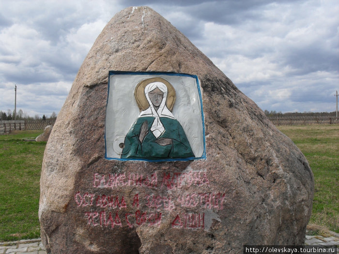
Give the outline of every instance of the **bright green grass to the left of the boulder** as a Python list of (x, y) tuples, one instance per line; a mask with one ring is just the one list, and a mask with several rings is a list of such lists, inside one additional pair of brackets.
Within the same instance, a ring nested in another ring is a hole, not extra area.
[(46, 142), (40, 131), (0, 135), (0, 241), (40, 237), (40, 173)]

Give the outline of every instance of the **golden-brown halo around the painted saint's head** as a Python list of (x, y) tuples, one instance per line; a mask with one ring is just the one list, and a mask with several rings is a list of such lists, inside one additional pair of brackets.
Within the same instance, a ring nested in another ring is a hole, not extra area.
[(146, 110), (150, 106), (145, 96), (145, 87), (152, 82), (161, 82), (166, 85), (167, 87), (166, 106), (170, 111), (172, 111), (175, 103), (175, 90), (173, 86), (170, 84), (170, 82), (161, 77), (152, 77), (142, 80), (135, 88), (134, 98), (138, 104), (140, 111)]

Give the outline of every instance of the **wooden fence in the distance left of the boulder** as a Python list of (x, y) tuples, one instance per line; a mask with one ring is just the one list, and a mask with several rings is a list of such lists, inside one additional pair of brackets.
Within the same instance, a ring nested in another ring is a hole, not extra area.
[(0, 120), (0, 134), (14, 130), (43, 130), (54, 122), (55, 120)]

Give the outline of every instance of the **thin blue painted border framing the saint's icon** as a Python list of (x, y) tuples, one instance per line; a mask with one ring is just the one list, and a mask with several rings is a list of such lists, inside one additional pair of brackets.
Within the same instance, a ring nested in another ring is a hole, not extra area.
[(197, 88), (199, 92), (200, 99), (200, 109), (201, 109), (201, 120), (202, 120), (202, 135), (203, 135), (203, 153), (201, 157), (186, 157), (186, 158), (169, 158), (169, 159), (159, 159), (159, 160), (148, 160), (148, 159), (122, 159), (122, 158), (111, 158), (107, 157), (107, 145), (106, 145), (106, 115), (105, 115), (105, 159), (107, 160), (117, 160), (117, 161), (146, 161), (146, 162), (174, 162), (174, 161), (192, 161), (192, 160), (206, 160), (206, 138), (205, 138), (205, 118), (202, 108), (202, 96), (200, 90), (200, 83), (197, 75), (185, 74), (185, 73), (173, 73), (173, 72), (126, 72), (126, 71), (109, 71), (108, 72), (108, 90), (107, 90), (107, 100), (106, 100), (106, 113), (108, 105), (108, 96), (109, 96), (109, 80), (111, 75), (169, 75), (169, 76), (188, 76), (196, 79)]

